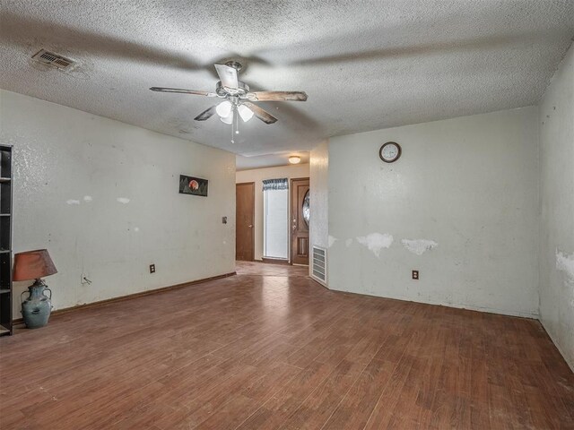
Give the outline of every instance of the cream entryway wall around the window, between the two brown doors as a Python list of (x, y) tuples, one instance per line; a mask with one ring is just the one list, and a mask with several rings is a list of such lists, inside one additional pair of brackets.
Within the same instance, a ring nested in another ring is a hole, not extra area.
[[(255, 182), (255, 259), (261, 260), (263, 258), (263, 180), (309, 177), (309, 164), (241, 170), (235, 177), (237, 184)], [(235, 214), (233, 216), (235, 217)]]

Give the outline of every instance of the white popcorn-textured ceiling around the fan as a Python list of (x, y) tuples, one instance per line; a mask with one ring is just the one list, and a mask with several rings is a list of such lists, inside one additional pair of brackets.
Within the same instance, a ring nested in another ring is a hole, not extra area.
[[(542, 96), (574, 36), (570, 0), (2, 0), (0, 87), (244, 155), (309, 150), (327, 136), (522, 107)], [(79, 62), (62, 73), (40, 48)], [(279, 122), (193, 117), (213, 63), (239, 59)]]

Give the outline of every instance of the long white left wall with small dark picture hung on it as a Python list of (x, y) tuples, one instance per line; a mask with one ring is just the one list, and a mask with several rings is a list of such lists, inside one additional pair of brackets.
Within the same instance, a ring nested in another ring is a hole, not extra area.
[[(8, 91), (0, 108), (15, 152), (13, 249), (48, 248), (55, 308), (235, 270), (233, 154)], [(209, 196), (178, 194), (180, 174), (208, 179)], [(27, 285), (14, 286), (16, 318)]]

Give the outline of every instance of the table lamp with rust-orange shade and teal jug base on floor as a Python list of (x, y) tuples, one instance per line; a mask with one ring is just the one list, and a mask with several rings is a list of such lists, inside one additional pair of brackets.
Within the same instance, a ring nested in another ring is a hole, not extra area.
[[(47, 249), (14, 255), (13, 280), (36, 280), (28, 287), (29, 296), (22, 301), (22, 317), (29, 329), (44, 327), (48, 323), (52, 311), (52, 290), (41, 278), (54, 273), (57, 273), (56, 266)], [(44, 294), (46, 290), (50, 292), (50, 297)]]

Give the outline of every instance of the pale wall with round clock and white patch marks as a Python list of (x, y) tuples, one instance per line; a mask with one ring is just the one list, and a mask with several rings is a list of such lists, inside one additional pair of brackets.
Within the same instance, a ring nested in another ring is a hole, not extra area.
[[(537, 115), (525, 107), (332, 138), (329, 288), (537, 315)], [(387, 141), (403, 148), (394, 164), (378, 158)]]

